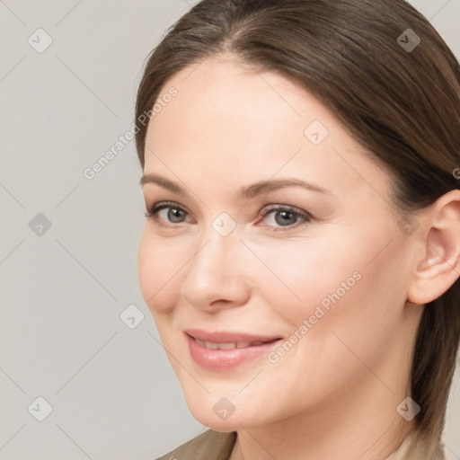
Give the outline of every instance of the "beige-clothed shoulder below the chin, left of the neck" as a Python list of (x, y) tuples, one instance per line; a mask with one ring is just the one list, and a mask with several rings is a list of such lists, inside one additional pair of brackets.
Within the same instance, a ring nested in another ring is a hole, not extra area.
[(228, 460), (236, 441), (236, 432), (221, 433), (207, 429), (197, 438), (175, 448), (156, 460)]

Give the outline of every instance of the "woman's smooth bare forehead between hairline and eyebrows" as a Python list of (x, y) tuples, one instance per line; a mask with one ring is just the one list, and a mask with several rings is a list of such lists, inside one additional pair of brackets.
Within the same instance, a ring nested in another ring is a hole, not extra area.
[(324, 188), (354, 186), (363, 174), (382, 180), (331, 111), (282, 75), (215, 57), (181, 70), (159, 97), (171, 88), (177, 95), (147, 129), (146, 173), (212, 175), (210, 188), (274, 174), (323, 181)]

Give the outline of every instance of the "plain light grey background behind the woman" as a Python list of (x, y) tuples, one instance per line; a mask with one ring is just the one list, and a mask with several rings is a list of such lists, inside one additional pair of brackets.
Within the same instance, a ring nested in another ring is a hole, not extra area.
[[(460, 57), (460, 0), (411, 3)], [(0, 0), (2, 460), (151, 459), (204, 428), (138, 288), (134, 141), (93, 180), (83, 174), (131, 127), (145, 58), (190, 5)], [(28, 42), (39, 28), (53, 40), (42, 53)], [(131, 323), (145, 315), (134, 329), (119, 317), (128, 305)], [(444, 436), (451, 459), (458, 380)], [(39, 396), (52, 406), (43, 421)]]

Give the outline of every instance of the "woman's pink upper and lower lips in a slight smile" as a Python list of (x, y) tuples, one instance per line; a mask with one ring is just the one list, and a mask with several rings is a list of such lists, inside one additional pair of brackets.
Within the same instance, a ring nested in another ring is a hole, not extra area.
[[(185, 337), (189, 344), (191, 358), (205, 369), (215, 372), (225, 372), (239, 367), (244, 363), (252, 361), (270, 352), (270, 349), (279, 345), (281, 338), (263, 337), (260, 335), (247, 334), (242, 332), (205, 332), (198, 330), (185, 331)], [(210, 341), (215, 343), (227, 342), (255, 342), (263, 341), (260, 345), (250, 345), (245, 348), (234, 349), (207, 349), (199, 341)]]

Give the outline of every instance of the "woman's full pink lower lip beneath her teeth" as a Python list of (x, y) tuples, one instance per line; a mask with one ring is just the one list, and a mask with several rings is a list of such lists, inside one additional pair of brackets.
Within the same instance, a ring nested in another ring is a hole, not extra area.
[(185, 334), (189, 341), (190, 356), (201, 367), (213, 371), (226, 371), (234, 369), (247, 361), (266, 355), (270, 349), (279, 345), (278, 341), (271, 341), (263, 345), (256, 345), (244, 349), (207, 349)]

